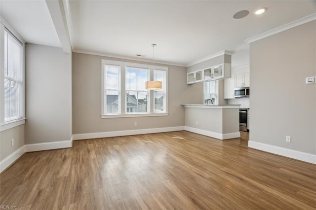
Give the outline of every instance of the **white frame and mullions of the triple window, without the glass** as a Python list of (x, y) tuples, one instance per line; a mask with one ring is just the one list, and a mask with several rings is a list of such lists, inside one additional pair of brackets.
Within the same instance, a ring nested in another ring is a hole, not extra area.
[[(107, 114), (104, 112), (104, 104), (106, 103), (104, 98), (104, 65), (114, 65), (120, 66), (120, 113)], [(166, 111), (165, 112), (156, 112), (154, 113), (154, 90), (148, 91), (148, 112), (136, 112), (131, 113), (127, 112), (126, 109), (126, 69), (128, 67), (140, 68), (140, 69), (148, 69), (149, 70), (149, 79), (154, 79), (154, 69), (153, 65), (148, 64), (140, 64), (140, 63), (131, 63), (131, 62), (123, 62), (116, 60), (106, 60), (101, 59), (101, 118), (121, 118), (121, 117), (151, 117), (151, 116), (167, 116), (168, 115), (168, 67), (156, 66), (155, 70), (164, 70), (166, 71)], [(122, 82), (124, 81), (124, 82)], [(123, 94), (124, 93), (124, 94)], [(123, 98), (124, 97), (124, 98)]]

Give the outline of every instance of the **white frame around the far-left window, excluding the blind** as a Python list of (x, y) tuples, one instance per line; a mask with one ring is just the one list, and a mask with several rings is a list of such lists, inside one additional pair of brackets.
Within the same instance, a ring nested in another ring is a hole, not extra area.
[[(25, 124), (25, 40), (8, 24), (0, 15), (0, 132)], [(22, 93), (21, 93), (21, 117), (4, 121), (4, 31), (11, 35), (22, 45), (22, 61), (21, 61), (21, 78), (22, 78)]]

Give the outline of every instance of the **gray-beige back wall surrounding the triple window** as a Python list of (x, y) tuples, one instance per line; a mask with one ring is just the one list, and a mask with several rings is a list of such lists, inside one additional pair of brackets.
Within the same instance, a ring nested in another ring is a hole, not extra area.
[(181, 104), (200, 104), (202, 101), (201, 84), (186, 84), (185, 67), (157, 64), (169, 68), (168, 116), (101, 119), (101, 59), (144, 63), (73, 53), (74, 134), (184, 126), (184, 107)]

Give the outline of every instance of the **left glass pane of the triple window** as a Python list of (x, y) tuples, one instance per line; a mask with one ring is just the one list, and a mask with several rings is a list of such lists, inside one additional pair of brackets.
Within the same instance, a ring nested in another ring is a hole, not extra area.
[(119, 113), (119, 66), (105, 65), (106, 113)]

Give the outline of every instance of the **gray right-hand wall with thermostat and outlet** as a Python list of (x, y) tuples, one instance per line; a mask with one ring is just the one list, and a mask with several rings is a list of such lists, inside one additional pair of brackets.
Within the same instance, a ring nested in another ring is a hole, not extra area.
[(316, 154), (315, 60), (316, 21), (250, 44), (251, 141)]

